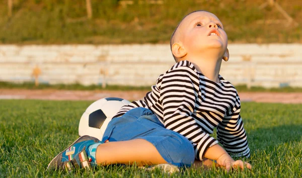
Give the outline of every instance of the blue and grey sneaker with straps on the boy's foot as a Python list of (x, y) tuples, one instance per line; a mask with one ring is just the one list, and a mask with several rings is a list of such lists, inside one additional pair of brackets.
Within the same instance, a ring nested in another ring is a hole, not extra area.
[(84, 135), (75, 140), (48, 164), (47, 169), (91, 168), (91, 158), (87, 156), (88, 148), (95, 143), (103, 143), (95, 137)]

